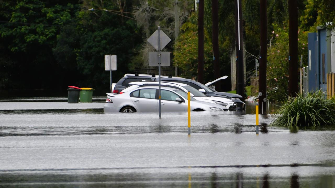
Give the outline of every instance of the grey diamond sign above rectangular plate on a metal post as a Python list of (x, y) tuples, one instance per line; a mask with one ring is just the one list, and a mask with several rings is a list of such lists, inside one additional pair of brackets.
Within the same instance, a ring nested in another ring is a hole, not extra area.
[(161, 52), (161, 50), (166, 46), (167, 43), (171, 41), (171, 38), (167, 36), (160, 27), (158, 26), (157, 30), (147, 39), (148, 42), (158, 51), (158, 52), (149, 52), (149, 66), (156, 67), (158, 66), (158, 100), (159, 100), (159, 118), (161, 107), (160, 107), (160, 67), (161, 66), (170, 66), (170, 52)]

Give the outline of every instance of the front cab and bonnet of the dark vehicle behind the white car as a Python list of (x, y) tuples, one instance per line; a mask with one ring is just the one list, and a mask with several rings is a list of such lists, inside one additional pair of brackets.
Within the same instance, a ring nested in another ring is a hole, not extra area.
[[(158, 80), (158, 78), (155, 78), (155, 80)], [(228, 98), (228, 99), (235, 102), (237, 110), (245, 110), (245, 108), (246, 108), (246, 104), (243, 101), (241, 101), (241, 100), (244, 100), (244, 99), (239, 94), (217, 92), (214, 89), (212, 89), (208, 86), (205, 86), (204, 84), (202, 84), (200, 82), (197, 82), (197, 81), (191, 80), (191, 79), (186, 79), (186, 78), (180, 78), (180, 77), (172, 77), (172, 78), (168, 77), (168, 78), (166, 78), (165, 77), (165, 78), (161, 78), (161, 80), (162, 81), (169, 81), (169, 82), (179, 82), (179, 83), (190, 85), (190, 86), (194, 87), (195, 89), (203, 92), (207, 96)]]

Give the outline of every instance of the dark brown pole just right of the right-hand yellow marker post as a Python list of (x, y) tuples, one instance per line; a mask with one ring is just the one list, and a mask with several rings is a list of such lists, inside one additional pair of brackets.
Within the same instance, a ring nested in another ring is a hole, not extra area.
[(260, 18), (260, 59), (259, 59), (259, 80), (258, 80), (258, 102), (261, 114), (266, 114), (266, 64), (267, 64), (267, 32), (268, 20), (266, 13), (266, 0), (259, 2), (259, 18)]

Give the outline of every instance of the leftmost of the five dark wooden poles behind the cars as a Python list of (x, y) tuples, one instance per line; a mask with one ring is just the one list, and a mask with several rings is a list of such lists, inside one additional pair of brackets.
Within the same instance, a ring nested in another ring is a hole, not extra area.
[(204, 0), (198, 7), (198, 82), (204, 82)]

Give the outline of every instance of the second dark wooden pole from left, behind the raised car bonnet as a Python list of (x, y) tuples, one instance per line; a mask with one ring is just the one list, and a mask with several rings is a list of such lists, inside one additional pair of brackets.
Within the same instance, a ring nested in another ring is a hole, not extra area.
[[(213, 44), (213, 63), (214, 79), (220, 78), (220, 55), (219, 55), (219, 2), (212, 0), (212, 44)], [(215, 90), (221, 91), (221, 82), (215, 82)]]

